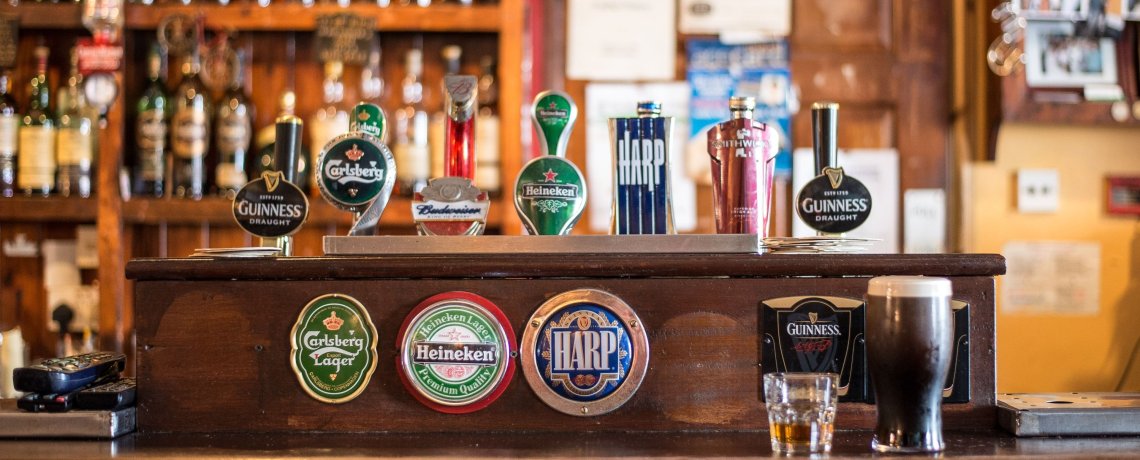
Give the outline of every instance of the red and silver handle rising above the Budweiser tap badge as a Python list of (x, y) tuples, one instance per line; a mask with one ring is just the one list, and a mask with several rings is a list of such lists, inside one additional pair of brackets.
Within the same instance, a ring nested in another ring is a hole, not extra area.
[(479, 83), (472, 75), (443, 77), (447, 129), (445, 130), (445, 175), (475, 180), (475, 95)]

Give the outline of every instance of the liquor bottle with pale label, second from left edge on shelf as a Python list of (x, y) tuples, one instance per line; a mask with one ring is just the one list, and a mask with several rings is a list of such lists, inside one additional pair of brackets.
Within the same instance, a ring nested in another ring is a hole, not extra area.
[(56, 181), (56, 120), (48, 89), (47, 47), (35, 48), (35, 76), (28, 91), (27, 112), (19, 125), (16, 181), (24, 195), (48, 196)]

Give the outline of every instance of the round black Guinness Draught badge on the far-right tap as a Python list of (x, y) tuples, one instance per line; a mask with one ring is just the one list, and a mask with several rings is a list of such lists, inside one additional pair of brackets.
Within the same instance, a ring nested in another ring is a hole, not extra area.
[(871, 191), (842, 167), (824, 167), (796, 197), (796, 213), (807, 227), (824, 233), (844, 233), (871, 216)]

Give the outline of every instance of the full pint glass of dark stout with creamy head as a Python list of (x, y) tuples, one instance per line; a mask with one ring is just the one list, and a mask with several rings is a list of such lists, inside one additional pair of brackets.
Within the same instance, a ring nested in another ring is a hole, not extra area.
[(953, 346), (951, 286), (944, 278), (872, 278), (866, 291), (866, 360), (878, 421), (871, 449), (938, 452), (942, 387)]

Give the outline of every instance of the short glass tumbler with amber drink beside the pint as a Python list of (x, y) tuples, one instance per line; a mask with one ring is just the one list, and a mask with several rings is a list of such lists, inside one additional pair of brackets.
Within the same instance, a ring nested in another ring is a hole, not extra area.
[(831, 452), (836, 430), (839, 375), (773, 372), (764, 375), (772, 451), (782, 454)]

